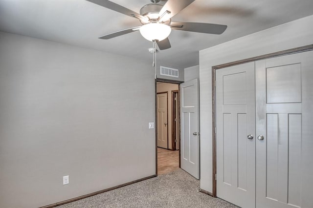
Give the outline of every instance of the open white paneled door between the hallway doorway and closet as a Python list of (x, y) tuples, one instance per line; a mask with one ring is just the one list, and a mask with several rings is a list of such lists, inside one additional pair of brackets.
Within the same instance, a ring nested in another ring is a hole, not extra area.
[(180, 84), (180, 166), (200, 179), (199, 81)]

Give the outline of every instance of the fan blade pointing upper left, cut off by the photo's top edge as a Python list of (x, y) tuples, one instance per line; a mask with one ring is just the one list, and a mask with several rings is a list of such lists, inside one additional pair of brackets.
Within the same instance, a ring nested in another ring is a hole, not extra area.
[(87, 1), (90, 1), (105, 8), (111, 9), (115, 12), (119, 12), (139, 20), (148, 21), (148, 19), (143, 17), (142, 15), (109, 0), (87, 0)]

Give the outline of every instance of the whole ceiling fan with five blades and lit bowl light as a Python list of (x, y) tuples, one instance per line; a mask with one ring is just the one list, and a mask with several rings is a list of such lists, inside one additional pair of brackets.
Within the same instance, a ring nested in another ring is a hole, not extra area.
[(172, 17), (177, 15), (182, 9), (195, 0), (167, 0), (164, 5), (158, 4), (160, 0), (151, 0), (152, 3), (141, 7), (140, 14), (109, 0), (88, 1), (132, 18), (136, 18), (142, 24), (141, 26), (101, 36), (99, 37), (100, 39), (107, 40), (139, 30), (145, 39), (156, 43), (160, 50), (164, 50), (171, 47), (171, 43), (167, 37), (170, 35), (172, 29), (220, 35), (227, 28), (227, 25), (222, 24), (179, 22), (171, 20)]

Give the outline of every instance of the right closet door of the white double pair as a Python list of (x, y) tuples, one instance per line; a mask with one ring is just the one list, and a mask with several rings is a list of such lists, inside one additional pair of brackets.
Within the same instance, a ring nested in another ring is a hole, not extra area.
[(313, 208), (312, 60), (256, 62), (257, 208)]

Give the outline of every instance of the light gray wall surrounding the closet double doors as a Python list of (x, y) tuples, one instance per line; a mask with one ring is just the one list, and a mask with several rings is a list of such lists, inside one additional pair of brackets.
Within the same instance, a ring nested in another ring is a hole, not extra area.
[(313, 16), (200, 51), (201, 189), (212, 192), (212, 66), (313, 44)]

